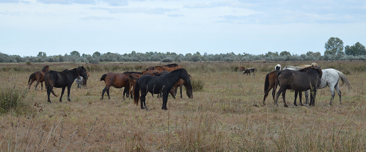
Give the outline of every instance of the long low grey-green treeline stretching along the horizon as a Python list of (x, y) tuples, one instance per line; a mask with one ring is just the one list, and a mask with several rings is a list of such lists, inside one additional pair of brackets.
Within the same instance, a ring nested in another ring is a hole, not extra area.
[(85, 62), (85, 63), (98, 63), (98, 62), (143, 62), (143, 61), (160, 61), (160, 62), (180, 62), (180, 61), (319, 61), (319, 60), (365, 60), (366, 55), (346, 55), (346, 54), (325, 54), (321, 55), (320, 52), (307, 52), (301, 55), (291, 55), (288, 51), (268, 52), (266, 54), (253, 55), (253, 54), (235, 54), (234, 52), (226, 54), (206, 54), (201, 55), (199, 52), (194, 54), (176, 54), (174, 52), (146, 52), (137, 53), (132, 51), (127, 54), (111, 53), (107, 52), (101, 54), (100, 52), (94, 52), (93, 55), (82, 54), (77, 51), (72, 51), (70, 54), (65, 55), (52, 55), (47, 56), (45, 52), (39, 52), (37, 56), (24, 56), (8, 55), (0, 53), (1, 63), (14, 63), (14, 62)]

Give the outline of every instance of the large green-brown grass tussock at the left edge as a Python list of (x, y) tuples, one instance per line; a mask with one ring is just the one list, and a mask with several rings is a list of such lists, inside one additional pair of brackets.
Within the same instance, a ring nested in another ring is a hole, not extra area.
[(3, 79), (0, 85), (0, 113), (11, 110), (18, 113), (26, 109), (26, 104), (23, 102), (28, 94), (26, 86), (21, 85), (20, 81), (14, 78)]

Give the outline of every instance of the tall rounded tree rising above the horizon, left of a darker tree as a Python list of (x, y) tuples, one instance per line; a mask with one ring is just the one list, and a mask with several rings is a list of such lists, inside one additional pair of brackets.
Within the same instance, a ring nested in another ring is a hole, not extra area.
[(331, 37), (325, 43), (324, 54), (343, 54), (343, 41), (339, 38)]

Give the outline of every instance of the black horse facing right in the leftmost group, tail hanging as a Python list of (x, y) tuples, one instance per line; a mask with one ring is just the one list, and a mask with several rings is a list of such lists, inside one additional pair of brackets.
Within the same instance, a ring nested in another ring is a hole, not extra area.
[(66, 69), (62, 72), (52, 70), (48, 71), (44, 76), (48, 96), (47, 101), (51, 103), (51, 100), (49, 100), (49, 95), (51, 93), (57, 97), (57, 95), (53, 92), (53, 87), (62, 87), (60, 102), (62, 102), (62, 96), (64, 94), (65, 88), (67, 87), (67, 100), (70, 101), (71, 85), (74, 80), (79, 76), (83, 77), (84, 79), (88, 79), (84, 66), (79, 66), (71, 70)]

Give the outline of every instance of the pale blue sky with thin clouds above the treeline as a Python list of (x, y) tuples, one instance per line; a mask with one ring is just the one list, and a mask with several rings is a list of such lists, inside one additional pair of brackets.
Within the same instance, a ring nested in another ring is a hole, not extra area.
[(364, 0), (0, 0), (0, 52), (319, 51), (366, 45)]

